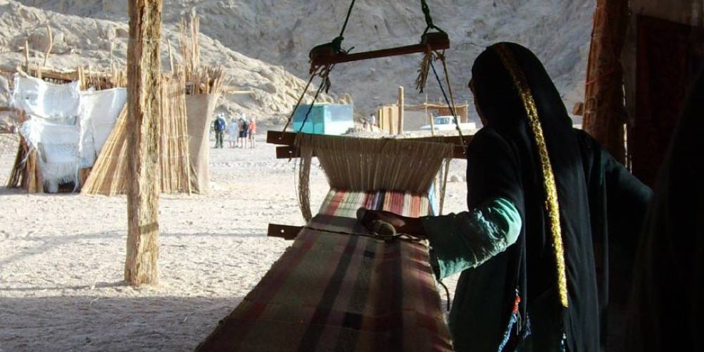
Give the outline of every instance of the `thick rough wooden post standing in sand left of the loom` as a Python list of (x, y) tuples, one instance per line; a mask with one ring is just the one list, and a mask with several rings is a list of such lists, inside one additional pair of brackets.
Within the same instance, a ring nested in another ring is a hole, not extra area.
[(157, 284), (162, 0), (129, 0), (125, 281)]

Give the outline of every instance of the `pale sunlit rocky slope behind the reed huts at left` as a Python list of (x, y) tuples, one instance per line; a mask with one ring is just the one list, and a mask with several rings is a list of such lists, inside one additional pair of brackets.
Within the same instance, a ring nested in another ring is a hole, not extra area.
[[(30, 63), (42, 65), (49, 48), (46, 23), (54, 36), (49, 66), (70, 69), (77, 65), (92, 68), (105, 68), (111, 63), (125, 65), (127, 23), (63, 15), (3, 0), (0, 0), (0, 65), (24, 61), (25, 39), (29, 41)], [(165, 27), (164, 37), (170, 39), (175, 57), (180, 59), (175, 49), (179, 37), (177, 27)], [(230, 87), (251, 91), (222, 99), (221, 109), (232, 113), (246, 112), (263, 119), (285, 115), (306, 83), (281, 66), (244, 56), (207, 35), (201, 34), (200, 45), (201, 63), (222, 65), (227, 70)], [(168, 51), (164, 46), (163, 67), (168, 69), (168, 65)], [(7, 82), (0, 77), (0, 106), (8, 99), (6, 89)], [(323, 96), (322, 100), (332, 101), (332, 98)]]

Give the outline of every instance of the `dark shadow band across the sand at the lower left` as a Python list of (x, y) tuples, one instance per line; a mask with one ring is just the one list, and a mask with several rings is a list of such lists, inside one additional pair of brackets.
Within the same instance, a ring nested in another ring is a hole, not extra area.
[(0, 351), (193, 351), (241, 300), (3, 297)]

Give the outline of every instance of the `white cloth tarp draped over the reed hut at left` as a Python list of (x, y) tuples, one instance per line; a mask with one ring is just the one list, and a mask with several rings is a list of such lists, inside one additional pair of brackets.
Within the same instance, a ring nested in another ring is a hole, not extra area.
[(12, 105), (27, 113), (20, 127), (39, 154), (39, 170), (50, 192), (75, 182), (91, 167), (127, 101), (124, 88), (80, 92), (79, 82), (51, 84), (15, 75)]

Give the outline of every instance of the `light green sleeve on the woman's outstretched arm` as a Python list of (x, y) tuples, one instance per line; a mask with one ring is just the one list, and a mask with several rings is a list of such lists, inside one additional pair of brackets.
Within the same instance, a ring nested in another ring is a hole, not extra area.
[(474, 268), (515, 243), (522, 221), (513, 203), (486, 201), (472, 212), (421, 218), (438, 279)]

